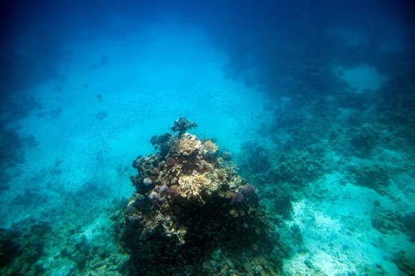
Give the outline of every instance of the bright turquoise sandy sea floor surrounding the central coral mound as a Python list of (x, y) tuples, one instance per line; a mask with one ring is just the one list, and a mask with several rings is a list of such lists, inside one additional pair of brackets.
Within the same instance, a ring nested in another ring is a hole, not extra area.
[[(177, 39), (185, 34), (187, 39)], [(152, 152), (151, 136), (169, 132), (178, 117), (195, 121), (194, 134), (214, 137), (234, 154), (246, 141), (263, 138), (259, 129), (273, 117), (273, 110), (264, 108), (266, 95), (223, 77), (226, 57), (212, 49), (203, 33), (173, 23), (148, 26), (119, 41), (73, 41), (66, 46), (71, 56), (59, 66), (60, 77), (24, 91), (42, 103), (42, 110), (8, 127), (35, 136), (38, 145), (26, 149), (23, 164), (8, 170), (0, 224), (47, 222), (52, 229), (43, 241), (47, 257), (37, 262), (46, 275), (81, 268), (91, 275), (109, 275), (109, 270), (116, 275), (127, 257), (118, 254), (111, 215), (133, 192), (131, 162)], [(356, 70), (374, 75), (365, 68)], [(356, 70), (345, 78), (352, 82)], [(365, 81), (354, 83), (368, 89)], [(389, 166), (396, 160), (413, 166), (405, 152), (385, 149), (379, 157)], [(371, 217), (375, 201), (396, 212), (415, 209), (413, 167), (395, 175), (390, 195), (381, 196), (347, 181), (344, 167), (356, 159), (327, 158), (333, 169), (310, 184), (286, 221), (299, 226), (303, 243), (285, 259), (284, 270), (288, 275), (400, 275), (394, 255), (415, 253), (415, 246), (396, 229), (380, 233)], [(74, 262), (76, 256), (84, 259)]]

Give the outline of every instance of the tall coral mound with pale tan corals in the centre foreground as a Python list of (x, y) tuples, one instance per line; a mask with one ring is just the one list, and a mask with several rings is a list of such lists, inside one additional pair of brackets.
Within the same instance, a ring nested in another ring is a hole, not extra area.
[(229, 152), (187, 132), (151, 144), (156, 153), (133, 162), (136, 192), (120, 227), (131, 273), (277, 275), (275, 231)]

